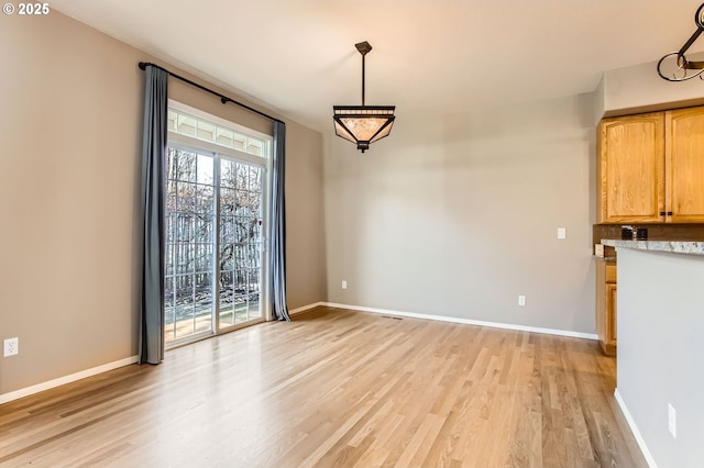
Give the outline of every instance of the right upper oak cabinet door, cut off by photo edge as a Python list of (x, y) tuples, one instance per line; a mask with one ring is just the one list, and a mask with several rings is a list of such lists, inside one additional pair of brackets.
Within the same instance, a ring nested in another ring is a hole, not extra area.
[(666, 115), (668, 221), (704, 221), (704, 108)]

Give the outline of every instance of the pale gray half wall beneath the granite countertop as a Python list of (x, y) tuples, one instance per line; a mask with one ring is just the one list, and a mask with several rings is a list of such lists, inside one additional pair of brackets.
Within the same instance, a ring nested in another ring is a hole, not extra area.
[(702, 466), (702, 285), (704, 257), (618, 249), (618, 393), (661, 468)]

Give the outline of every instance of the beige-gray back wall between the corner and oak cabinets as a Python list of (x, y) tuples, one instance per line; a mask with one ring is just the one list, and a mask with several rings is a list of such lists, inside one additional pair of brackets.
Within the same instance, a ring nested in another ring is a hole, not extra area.
[(397, 114), (326, 140), (329, 301), (594, 333), (592, 96)]

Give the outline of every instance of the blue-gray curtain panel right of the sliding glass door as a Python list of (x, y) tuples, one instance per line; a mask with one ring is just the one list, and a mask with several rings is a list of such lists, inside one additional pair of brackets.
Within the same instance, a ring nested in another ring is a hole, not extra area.
[(286, 161), (286, 124), (274, 122), (274, 170), (272, 172), (272, 315), (275, 320), (290, 320), (286, 305), (286, 203), (284, 174)]

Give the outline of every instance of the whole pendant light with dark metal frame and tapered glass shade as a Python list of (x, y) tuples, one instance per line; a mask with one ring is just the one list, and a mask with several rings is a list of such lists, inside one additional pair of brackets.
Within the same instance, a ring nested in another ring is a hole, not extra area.
[(333, 105), (334, 133), (356, 143), (364, 153), (370, 144), (382, 140), (392, 132), (396, 105), (366, 105), (364, 101), (364, 58), (372, 51), (369, 42), (354, 45), (362, 54), (362, 105)]

